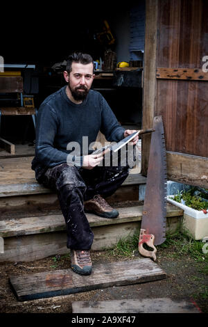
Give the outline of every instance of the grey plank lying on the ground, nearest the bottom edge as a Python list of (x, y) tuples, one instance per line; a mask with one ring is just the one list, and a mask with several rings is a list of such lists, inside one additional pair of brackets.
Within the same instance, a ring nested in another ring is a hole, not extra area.
[(138, 300), (76, 301), (72, 313), (200, 313), (191, 301), (171, 298), (139, 298)]

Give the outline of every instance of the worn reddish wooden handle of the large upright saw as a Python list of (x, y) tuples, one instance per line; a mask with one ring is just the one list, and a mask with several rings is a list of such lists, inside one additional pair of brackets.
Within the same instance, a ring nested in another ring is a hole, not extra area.
[[(140, 230), (140, 235), (139, 235), (139, 253), (143, 255), (144, 257), (151, 257), (153, 258), (154, 261), (156, 261), (156, 255), (155, 253), (157, 252), (157, 248), (154, 246), (154, 240), (155, 237), (153, 234), (145, 234), (146, 230), (141, 229)], [(146, 243), (150, 248), (153, 248), (153, 251), (146, 250), (143, 247), (143, 244)]]

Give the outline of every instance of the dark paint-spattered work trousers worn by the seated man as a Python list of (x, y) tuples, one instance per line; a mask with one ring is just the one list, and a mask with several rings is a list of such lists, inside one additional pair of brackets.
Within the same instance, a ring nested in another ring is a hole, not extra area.
[(96, 166), (92, 170), (62, 163), (49, 168), (42, 184), (58, 193), (60, 208), (67, 228), (67, 248), (90, 250), (94, 239), (83, 202), (96, 194), (111, 196), (128, 176), (128, 166)]

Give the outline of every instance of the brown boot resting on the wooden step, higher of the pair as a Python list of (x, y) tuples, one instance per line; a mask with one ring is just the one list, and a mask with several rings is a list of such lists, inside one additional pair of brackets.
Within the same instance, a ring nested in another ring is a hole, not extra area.
[(84, 203), (85, 212), (97, 214), (104, 218), (116, 218), (119, 216), (119, 212), (110, 207), (110, 205), (99, 195), (94, 196), (92, 200), (88, 200)]

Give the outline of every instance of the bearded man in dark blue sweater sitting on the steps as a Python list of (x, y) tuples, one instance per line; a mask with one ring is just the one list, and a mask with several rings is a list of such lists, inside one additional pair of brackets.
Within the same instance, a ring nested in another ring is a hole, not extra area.
[[(67, 248), (71, 249), (71, 268), (89, 275), (94, 234), (85, 212), (105, 218), (119, 216), (104, 198), (124, 182), (129, 168), (102, 166), (102, 153), (92, 153), (89, 145), (96, 141), (98, 131), (107, 141), (118, 142), (135, 130), (123, 129), (103, 96), (90, 89), (94, 79), (92, 56), (71, 54), (64, 79), (67, 86), (47, 97), (38, 110), (32, 169), (37, 182), (58, 194), (66, 222)], [(137, 141), (138, 136), (133, 144)], [(80, 151), (74, 153), (71, 143)]]

